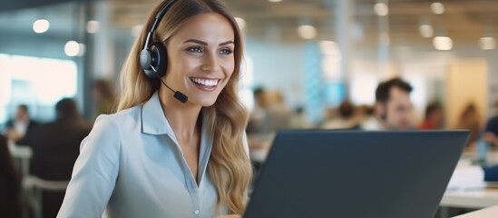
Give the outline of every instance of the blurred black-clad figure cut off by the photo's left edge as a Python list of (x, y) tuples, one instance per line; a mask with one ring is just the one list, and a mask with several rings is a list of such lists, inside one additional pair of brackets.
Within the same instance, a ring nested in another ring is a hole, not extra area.
[(15, 172), (7, 138), (0, 134), (0, 217), (20, 218), (21, 215), (21, 178)]

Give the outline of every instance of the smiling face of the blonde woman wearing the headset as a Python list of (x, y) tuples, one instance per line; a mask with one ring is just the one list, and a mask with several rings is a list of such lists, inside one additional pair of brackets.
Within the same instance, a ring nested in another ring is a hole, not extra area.
[(234, 41), (233, 28), (224, 16), (191, 17), (166, 45), (166, 84), (187, 95), (191, 104), (214, 104), (234, 70)]

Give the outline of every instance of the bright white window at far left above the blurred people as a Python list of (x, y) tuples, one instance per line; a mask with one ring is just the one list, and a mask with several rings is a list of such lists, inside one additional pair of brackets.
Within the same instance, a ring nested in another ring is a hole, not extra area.
[(0, 54), (0, 124), (26, 104), (34, 119), (54, 119), (54, 104), (74, 97), (77, 66), (73, 61)]

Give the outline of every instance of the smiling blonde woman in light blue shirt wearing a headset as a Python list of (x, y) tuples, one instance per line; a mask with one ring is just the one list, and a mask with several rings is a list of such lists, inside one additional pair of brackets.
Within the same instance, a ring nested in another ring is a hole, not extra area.
[(83, 140), (59, 216), (243, 213), (252, 169), (233, 15), (219, 1), (165, 1), (144, 26), (122, 67), (118, 113)]

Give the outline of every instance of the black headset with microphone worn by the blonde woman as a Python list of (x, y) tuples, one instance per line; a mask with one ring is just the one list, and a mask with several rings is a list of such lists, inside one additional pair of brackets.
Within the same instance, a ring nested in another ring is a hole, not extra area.
[(169, 0), (157, 13), (154, 21), (152, 22), (151, 28), (149, 29), (147, 37), (145, 38), (145, 43), (143, 44), (142, 51), (140, 52), (140, 66), (142, 67), (143, 73), (151, 79), (159, 79), (162, 84), (164, 84), (171, 92), (174, 93), (174, 97), (178, 99), (181, 103), (186, 103), (189, 99), (187, 95), (182, 94), (180, 91), (174, 91), (168, 86), (164, 81), (162, 81), (162, 76), (166, 74), (166, 69), (168, 68), (168, 53), (166, 52), (166, 47), (162, 45), (162, 42), (153, 42), (152, 37), (154, 31), (156, 31), (157, 26), (161, 22), (162, 17), (166, 14), (170, 6), (174, 3), (174, 0)]

